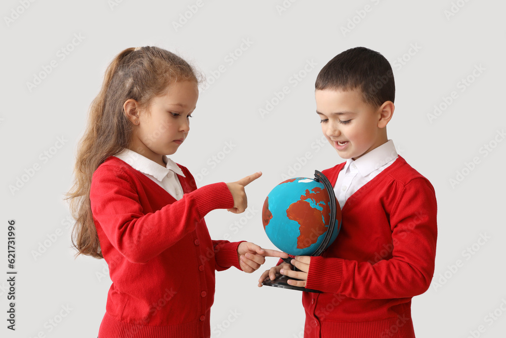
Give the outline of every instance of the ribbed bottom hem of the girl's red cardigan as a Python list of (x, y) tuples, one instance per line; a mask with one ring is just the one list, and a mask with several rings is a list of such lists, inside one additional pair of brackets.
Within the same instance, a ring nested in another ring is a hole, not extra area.
[[(99, 338), (201, 338), (202, 325), (209, 326), (209, 316), (204, 321), (193, 321), (178, 325), (149, 326), (122, 322), (107, 312), (100, 324)], [(204, 330), (208, 331), (208, 330)]]

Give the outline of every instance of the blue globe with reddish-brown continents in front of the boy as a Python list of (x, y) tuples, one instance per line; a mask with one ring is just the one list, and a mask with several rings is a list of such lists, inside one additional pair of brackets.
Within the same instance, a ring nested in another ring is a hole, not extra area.
[[(332, 193), (332, 198), (335, 199)], [(341, 209), (336, 201), (332, 244), (341, 228)], [(321, 181), (307, 177), (287, 179), (265, 199), (262, 222), (269, 240), (290, 255), (313, 255), (327, 233), (330, 198)]]

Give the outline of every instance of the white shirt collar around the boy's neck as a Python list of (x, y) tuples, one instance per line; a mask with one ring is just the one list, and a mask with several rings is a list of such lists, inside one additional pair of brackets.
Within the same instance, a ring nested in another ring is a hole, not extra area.
[(365, 177), (396, 158), (397, 151), (395, 150), (394, 141), (388, 140), (355, 161), (348, 159), (346, 165), (355, 164), (360, 174)]

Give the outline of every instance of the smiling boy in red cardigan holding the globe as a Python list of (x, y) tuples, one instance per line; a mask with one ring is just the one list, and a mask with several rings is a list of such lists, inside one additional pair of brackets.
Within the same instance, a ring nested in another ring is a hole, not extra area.
[(386, 126), (392, 68), (363, 47), (330, 60), (315, 84), (322, 131), (346, 162), (324, 170), (342, 209), (338, 238), (321, 256), (296, 256), (264, 272), (300, 279), (305, 337), (414, 337), (411, 297), (431, 283), (437, 204), (432, 184), (397, 155)]

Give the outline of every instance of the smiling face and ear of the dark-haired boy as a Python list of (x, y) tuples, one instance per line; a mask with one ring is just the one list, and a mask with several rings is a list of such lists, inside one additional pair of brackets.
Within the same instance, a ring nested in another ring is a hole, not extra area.
[(342, 159), (356, 160), (387, 142), (385, 127), (394, 111), (391, 101), (375, 109), (363, 101), (358, 89), (316, 90), (315, 99), (323, 135)]

